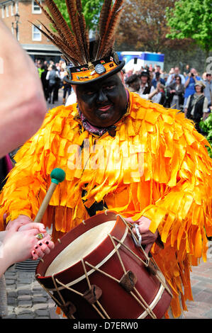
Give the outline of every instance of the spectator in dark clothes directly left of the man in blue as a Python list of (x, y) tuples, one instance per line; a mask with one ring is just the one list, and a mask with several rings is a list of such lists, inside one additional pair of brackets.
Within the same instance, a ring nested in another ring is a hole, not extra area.
[(167, 86), (167, 94), (170, 94), (170, 107), (182, 110), (184, 106), (184, 85), (179, 75), (174, 78), (174, 83)]

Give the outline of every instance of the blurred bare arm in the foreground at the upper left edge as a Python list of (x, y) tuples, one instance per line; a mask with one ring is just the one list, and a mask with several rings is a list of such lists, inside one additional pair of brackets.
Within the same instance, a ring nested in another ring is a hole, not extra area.
[(23, 145), (47, 110), (35, 64), (0, 19), (0, 157)]

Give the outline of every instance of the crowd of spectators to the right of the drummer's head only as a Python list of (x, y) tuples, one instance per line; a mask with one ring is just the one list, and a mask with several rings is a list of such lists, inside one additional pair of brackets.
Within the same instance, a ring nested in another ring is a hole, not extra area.
[(199, 132), (201, 118), (205, 120), (211, 113), (211, 73), (199, 76), (189, 65), (183, 74), (179, 67), (172, 68), (169, 73), (163, 72), (160, 65), (146, 66), (139, 72), (130, 70), (125, 72), (125, 84), (145, 99), (184, 112), (186, 118), (194, 120)]

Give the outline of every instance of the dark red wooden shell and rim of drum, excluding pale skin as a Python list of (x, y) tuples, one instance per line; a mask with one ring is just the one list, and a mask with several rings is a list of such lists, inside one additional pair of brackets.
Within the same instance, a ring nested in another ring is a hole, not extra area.
[[(116, 225), (113, 227), (113, 230), (111, 230), (110, 235), (119, 240), (123, 239), (123, 244), (125, 244), (131, 251), (145, 261), (145, 256), (142, 250), (135, 246), (130, 233), (126, 231), (127, 228), (125, 224), (119, 216), (117, 218), (115, 212), (107, 211), (106, 214), (100, 213), (92, 218), (89, 218), (85, 221), (86, 225), (81, 223), (63, 236), (60, 239), (61, 242), (57, 242), (57, 244), (55, 244), (55, 248), (50, 252), (50, 254), (45, 255), (43, 257), (43, 261), (40, 261), (37, 266), (36, 278), (38, 282), (46, 290), (49, 290), (50, 293), (53, 293), (54, 298), (56, 298), (60, 304), (62, 303), (60, 295), (57, 290), (54, 290), (54, 281), (56, 280), (68, 285), (69, 288), (77, 290), (77, 292), (82, 294), (89, 290), (82, 262), (79, 260), (77, 264), (74, 264), (68, 269), (55, 273), (53, 278), (52, 276), (45, 276), (45, 272), (56, 256), (60, 254), (60, 252), (71, 242), (73, 242), (74, 239), (77, 239), (77, 237), (82, 235), (84, 232), (91, 230), (91, 228), (96, 227), (96, 225), (100, 225), (101, 223), (109, 220), (116, 220)], [(118, 252), (121, 256), (121, 260), (123, 261), (123, 265), (125, 266), (125, 270), (132, 271), (137, 278), (137, 282), (135, 283), (136, 290), (138, 290), (147, 305), (150, 305), (155, 301), (152, 311), (156, 315), (157, 319), (162, 318), (170, 305), (172, 296), (166, 289), (162, 290), (162, 284), (157, 279), (157, 276), (150, 273), (142, 261), (140, 261), (135, 255), (131, 254), (128, 249), (125, 249), (123, 245), (120, 246), (118, 242), (114, 242), (116, 247), (119, 246)], [(113, 243), (111, 242), (111, 238), (108, 236), (102, 240), (101, 244), (99, 244), (94, 251), (84, 258), (84, 263), (86, 262), (92, 266), (99, 267), (101, 271), (108, 273), (118, 279), (118, 281), (121, 280), (124, 275), (121, 262), (118, 259), (118, 255), (114, 249)], [(143, 306), (141, 306), (140, 303), (133, 298), (133, 295), (126, 291), (117, 281), (114, 281), (108, 276), (105, 276), (103, 273), (92, 269), (87, 264), (85, 264), (85, 267), (91, 285), (98, 286), (102, 290), (99, 303), (101, 303), (101, 306), (106, 311), (108, 317), (111, 319), (137, 319), (141, 315), (145, 314), (144, 317), (146, 319), (151, 318), (151, 316), (145, 312)], [(57, 283), (57, 287), (60, 290), (63, 300), (65, 300), (65, 302), (71, 301), (75, 305), (77, 311), (73, 314), (74, 318), (101, 318), (99, 312), (96, 312), (94, 307), (92, 307), (92, 305), (81, 295), (78, 295), (67, 288), (60, 288), (61, 285), (59, 283)], [(160, 290), (162, 290), (162, 292), (159, 292)], [(132, 291), (136, 297), (138, 297), (134, 290)], [(96, 305), (96, 307), (98, 307), (98, 305)]]

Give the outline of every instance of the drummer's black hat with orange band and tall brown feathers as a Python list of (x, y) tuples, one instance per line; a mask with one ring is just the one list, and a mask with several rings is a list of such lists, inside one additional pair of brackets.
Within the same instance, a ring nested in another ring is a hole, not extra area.
[(33, 26), (38, 28), (43, 35), (48, 37), (63, 54), (67, 62), (69, 81), (72, 84), (83, 84), (120, 71), (124, 62), (120, 62), (114, 52), (116, 29), (121, 19), (124, 0), (105, 0), (99, 16), (99, 25), (96, 30), (96, 38), (89, 40), (89, 28), (82, 13), (81, 0), (65, 0), (71, 28), (60, 13), (53, 0), (45, 0), (44, 6), (35, 0), (55, 28), (53, 33), (50, 28)]

